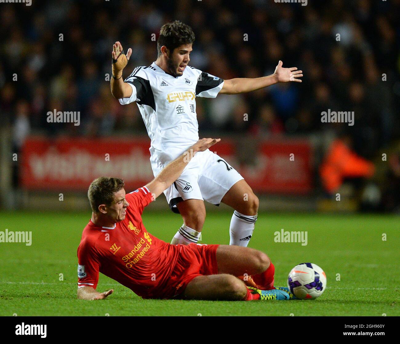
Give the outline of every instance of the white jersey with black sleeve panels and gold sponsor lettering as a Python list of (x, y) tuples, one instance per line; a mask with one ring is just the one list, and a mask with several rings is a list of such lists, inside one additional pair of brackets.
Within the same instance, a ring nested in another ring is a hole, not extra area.
[(132, 87), (132, 95), (119, 101), (122, 105), (136, 101), (151, 139), (151, 155), (168, 149), (184, 151), (196, 143), (195, 98), (215, 98), (224, 84), (224, 80), (190, 66), (175, 78), (156, 62), (136, 67), (125, 82)]

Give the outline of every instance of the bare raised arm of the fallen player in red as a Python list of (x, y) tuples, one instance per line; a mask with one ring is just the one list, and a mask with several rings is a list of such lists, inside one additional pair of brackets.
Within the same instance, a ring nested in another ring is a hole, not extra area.
[(200, 139), (182, 155), (164, 167), (157, 177), (146, 185), (148, 190), (152, 193), (154, 199), (161, 195), (164, 190), (168, 189), (168, 187), (170, 187), (172, 183), (178, 179), (186, 165), (197, 152), (205, 151), (219, 141), (221, 141), (221, 139)]

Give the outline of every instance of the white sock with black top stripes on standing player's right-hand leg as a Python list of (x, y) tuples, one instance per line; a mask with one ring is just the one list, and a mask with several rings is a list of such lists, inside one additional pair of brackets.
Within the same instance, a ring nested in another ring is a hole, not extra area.
[(247, 247), (254, 231), (254, 223), (257, 221), (257, 215), (243, 215), (234, 211), (232, 220), (230, 220), (229, 245)]

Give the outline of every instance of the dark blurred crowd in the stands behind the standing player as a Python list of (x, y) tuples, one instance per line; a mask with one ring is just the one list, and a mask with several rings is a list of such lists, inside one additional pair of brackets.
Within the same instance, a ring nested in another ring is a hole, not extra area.
[[(272, 74), (282, 60), (284, 67), (296, 66), (304, 74), (302, 84), (196, 99), (200, 133), (329, 131), (366, 159), (386, 147), (400, 151), (394, 146), (400, 132), (399, 1), (309, 1), (307, 6), (273, 0), (3, 4), (0, 125), (12, 125), (16, 147), (32, 131), (145, 133), (137, 106), (120, 106), (110, 93), (112, 44), (119, 40), (125, 51), (133, 50), (126, 77), (134, 67), (156, 60), (160, 27), (175, 19), (196, 34), (190, 65), (200, 70), (222, 79), (257, 78)], [(47, 123), (46, 113), (53, 109), (80, 111), (81, 125)], [(321, 112), (328, 109), (354, 111), (354, 126), (322, 123)], [(391, 164), (387, 173), (399, 191), (398, 159)]]

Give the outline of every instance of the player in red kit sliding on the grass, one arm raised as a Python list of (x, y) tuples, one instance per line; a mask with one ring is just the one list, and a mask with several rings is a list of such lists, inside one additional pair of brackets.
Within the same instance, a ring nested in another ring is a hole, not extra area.
[[(196, 154), (220, 139), (201, 139), (169, 163), (153, 181), (126, 194), (124, 181), (95, 179), (88, 198), (92, 219), (78, 247), (78, 298), (98, 300), (113, 290), (97, 292), (99, 272), (142, 298), (202, 300), (288, 300), (288, 288), (274, 288), (274, 265), (248, 247), (171, 245), (146, 230), (144, 207), (180, 176)], [(201, 154), (201, 153), (200, 153)], [(252, 276), (257, 288), (236, 276)]]

